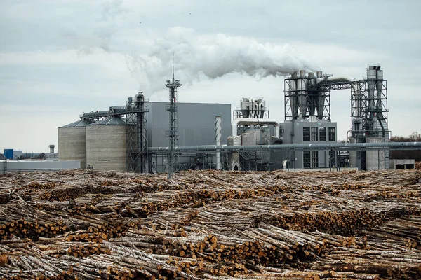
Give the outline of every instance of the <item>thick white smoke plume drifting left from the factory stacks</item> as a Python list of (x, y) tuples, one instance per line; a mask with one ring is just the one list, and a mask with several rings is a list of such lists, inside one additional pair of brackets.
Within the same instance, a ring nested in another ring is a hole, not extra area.
[(145, 55), (126, 55), (128, 69), (140, 81), (141, 90), (162, 90), (171, 78), (174, 57), (176, 78), (192, 83), (204, 75), (210, 79), (229, 73), (257, 78), (287, 76), (294, 71), (319, 67), (290, 45), (259, 43), (252, 38), (225, 34), (199, 36), (193, 29), (173, 27), (156, 38)]

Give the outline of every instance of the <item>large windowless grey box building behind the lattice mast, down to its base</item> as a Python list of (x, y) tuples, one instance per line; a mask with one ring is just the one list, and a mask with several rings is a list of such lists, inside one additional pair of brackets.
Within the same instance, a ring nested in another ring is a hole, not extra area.
[[(145, 104), (147, 113), (147, 133), (149, 147), (168, 146), (168, 104), (165, 102), (149, 102)], [(231, 134), (231, 104), (211, 103), (177, 103), (178, 107), (178, 145), (201, 146), (215, 145), (215, 117), (221, 117), (222, 145), (227, 144)], [(154, 172), (166, 172), (167, 158), (150, 158)], [(179, 169), (215, 169), (214, 154), (178, 155)]]

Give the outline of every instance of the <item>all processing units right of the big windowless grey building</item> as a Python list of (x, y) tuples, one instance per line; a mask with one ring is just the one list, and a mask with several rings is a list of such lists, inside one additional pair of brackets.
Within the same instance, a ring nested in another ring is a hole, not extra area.
[[(351, 143), (389, 141), (387, 127), (387, 81), (380, 66), (368, 65), (367, 76), (356, 80), (347, 76), (323, 75), (305, 70), (295, 71), (284, 79), (284, 121), (269, 119), (265, 102), (243, 98), (234, 110), (230, 145), (330, 144), (337, 141), (337, 123), (330, 116), (330, 92), (350, 89), (352, 96)], [(269, 132), (267, 125), (279, 130)], [(260, 131), (259, 131), (260, 130)], [(264, 135), (270, 135), (265, 140)], [(273, 143), (272, 143), (273, 142)], [(309, 149), (307, 151), (234, 152), (230, 169), (315, 169), (340, 165), (340, 151)], [(251, 164), (250, 164), (251, 162)], [(350, 151), (350, 167), (374, 170), (389, 167), (389, 152), (382, 150)]]

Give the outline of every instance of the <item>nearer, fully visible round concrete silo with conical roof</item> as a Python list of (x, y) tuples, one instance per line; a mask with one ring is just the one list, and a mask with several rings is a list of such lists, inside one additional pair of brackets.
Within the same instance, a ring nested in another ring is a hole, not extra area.
[(126, 120), (110, 117), (86, 127), (86, 165), (95, 170), (126, 170)]

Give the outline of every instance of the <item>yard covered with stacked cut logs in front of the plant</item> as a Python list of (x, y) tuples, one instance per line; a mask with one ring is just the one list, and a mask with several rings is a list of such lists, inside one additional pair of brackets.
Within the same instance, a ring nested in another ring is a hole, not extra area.
[(420, 279), (421, 171), (0, 174), (0, 279)]

